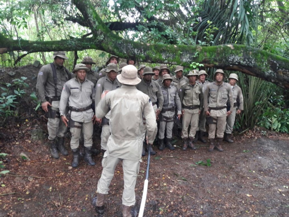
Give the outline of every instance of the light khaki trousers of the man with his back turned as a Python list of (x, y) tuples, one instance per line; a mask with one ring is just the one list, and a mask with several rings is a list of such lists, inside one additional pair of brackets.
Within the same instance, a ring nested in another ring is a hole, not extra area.
[(114, 170), (119, 161), (123, 161), (123, 197), (122, 204), (132, 206), (136, 203), (136, 195), (134, 188), (136, 186), (136, 178), (140, 168), (140, 160), (127, 160), (104, 154), (102, 159), (103, 170), (97, 184), (97, 193), (108, 194), (109, 185), (114, 175)]

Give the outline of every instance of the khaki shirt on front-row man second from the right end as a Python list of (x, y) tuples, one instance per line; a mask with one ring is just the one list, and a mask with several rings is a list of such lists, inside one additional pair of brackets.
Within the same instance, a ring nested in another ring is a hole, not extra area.
[[(225, 82), (218, 85), (213, 81), (207, 85), (207, 89), (204, 94), (204, 111), (209, 111), (209, 107), (214, 108), (226, 106), (228, 100), (231, 106), (230, 111), (233, 111), (234, 100), (231, 85)], [(226, 116), (227, 108), (221, 110), (211, 110), (210, 113), (211, 116)]]

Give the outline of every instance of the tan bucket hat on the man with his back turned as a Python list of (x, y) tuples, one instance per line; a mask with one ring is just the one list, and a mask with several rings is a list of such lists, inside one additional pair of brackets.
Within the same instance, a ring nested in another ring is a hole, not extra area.
[(116, 76), (117, 80), (122, 84), (136, 85), (141, 82), (138, 78), (138, 69), (133, 65), (127, 65), (121, 69), (121, 74)]

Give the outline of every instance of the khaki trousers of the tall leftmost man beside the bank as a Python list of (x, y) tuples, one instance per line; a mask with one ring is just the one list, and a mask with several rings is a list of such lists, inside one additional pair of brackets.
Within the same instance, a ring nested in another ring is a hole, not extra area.
[[(57, 103), (57, 102), (55, 102)], [(54, 104), (54, 101), (52, 102), (52, 105)], [(59, 102), (58, 102), (59, 105)], [(51, 107), (52, 110), (58, 111), (58, 107)], [(47, 122), (47, 130), (48, 130), (48, 139), (49, 140), (55, 140), (56, 137), (64, 137), (65, 133), (67, 131), (67, 127), (65, 124), (60, 120), (60, 118), (48, 118)]]

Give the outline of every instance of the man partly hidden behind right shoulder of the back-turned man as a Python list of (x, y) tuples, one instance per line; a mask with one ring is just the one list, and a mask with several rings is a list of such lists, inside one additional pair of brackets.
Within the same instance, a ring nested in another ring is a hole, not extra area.
[[(143, 79), (142, 81), (136, 85), (136, 89), (138, 89), (139, 91), (142, 91), (142, 93), (145, 93), (149, 96), (149, 98), (151, 99), (151, 102), (153, 104), (153, 110), (155, 111), (155, 116), (156, 119), (158, 120), (158, 116), (162, 111), (162, 106), (164, 104), (164, 97), (162, 95), (162, 90), (160, 85), (155, 82), (154, 80), (151, 80), (151, 77), (154, 75), (151, 67), (145, 67), (143, 70)], [(157, 106), (157, 102), (158, 102), (158, 106)], [(142, 156), (145, 156), (146, 154), (146, 124), (145, 124), (145, 120), (144, 120), (144, 128), (143, 128), (143, 148), (142, 148)], [(153, 150), (153, 148), (151, 146), (149, 146), (151, 148), (151, 155), (155, 155), (155, 151)]]

